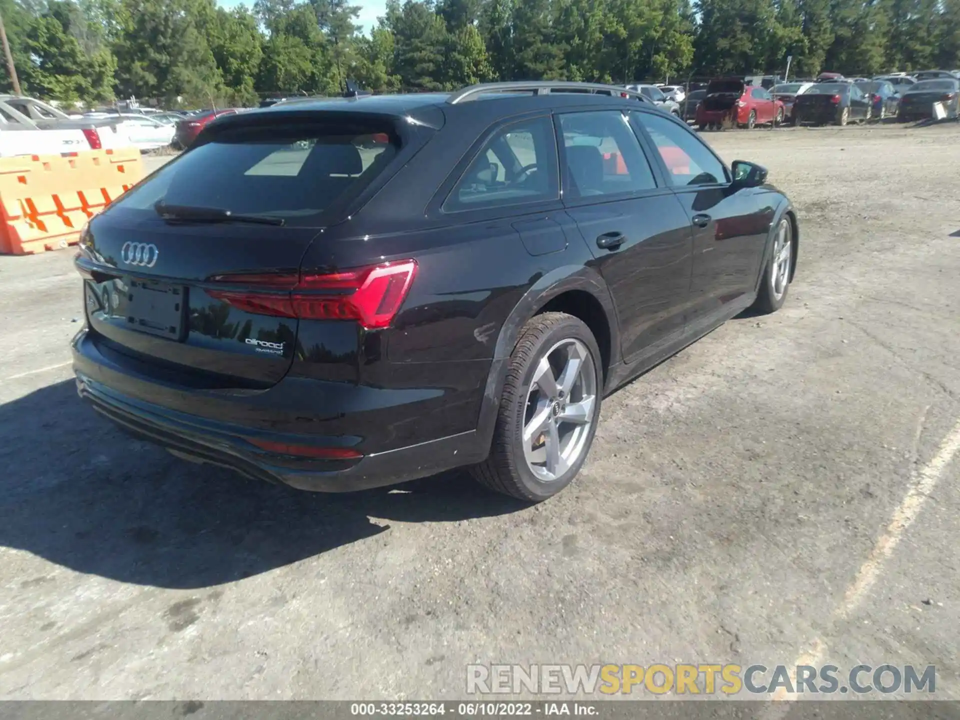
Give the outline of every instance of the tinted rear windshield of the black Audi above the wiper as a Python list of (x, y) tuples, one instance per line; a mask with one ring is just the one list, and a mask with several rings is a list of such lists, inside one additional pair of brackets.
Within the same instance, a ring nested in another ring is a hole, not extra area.
[(160, 168), (116, 203), (127, 210), (214, 207), (312, 227), (325, 209), (355, 196), (396, 156), (386, 132), (271, 126), (219, 132)]

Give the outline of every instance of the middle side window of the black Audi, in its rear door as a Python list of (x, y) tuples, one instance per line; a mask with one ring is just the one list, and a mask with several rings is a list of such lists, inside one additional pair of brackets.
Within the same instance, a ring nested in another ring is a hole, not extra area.
[(616, 195), (657, 187), (650, 163), (619, 110), (560, 115), (564, 186), (572, 197)]

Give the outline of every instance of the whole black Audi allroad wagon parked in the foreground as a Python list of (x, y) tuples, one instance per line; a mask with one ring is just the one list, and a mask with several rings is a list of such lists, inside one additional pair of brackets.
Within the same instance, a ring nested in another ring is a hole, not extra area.
[(77, 386), (180, 458), (300, 489), (471, 466), (538, 501), (603, 396), (780, 307), (798, 239), (763, 168), (623, 88), (253, 110), (90, 222)]

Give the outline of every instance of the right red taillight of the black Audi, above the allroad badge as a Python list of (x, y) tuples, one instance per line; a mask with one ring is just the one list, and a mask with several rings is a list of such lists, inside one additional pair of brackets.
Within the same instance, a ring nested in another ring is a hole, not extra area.
[(256, 315), (353, 320), (376, 329), (393, 323), (416, 274), (416, 260), (401, 260), (326, 275), (306, 272), (214, 276), (210, 278), (213, 282), (247, 287), (212, 289), (207, 294)]

